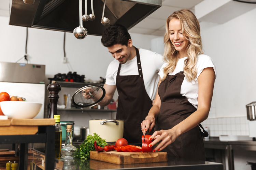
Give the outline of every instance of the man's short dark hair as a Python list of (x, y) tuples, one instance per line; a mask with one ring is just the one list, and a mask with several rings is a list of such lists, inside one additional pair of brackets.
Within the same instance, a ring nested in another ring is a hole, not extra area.
[(115, 44), (127, 46), (129, 39), (131, 39), (131, 36), (127, 29), (120, 24), (115, 24), (105, 29), (101, 37), (101, 43), (105, 47), (111, 47)]

